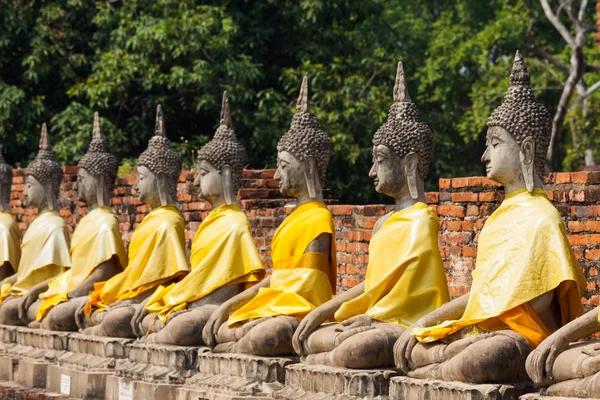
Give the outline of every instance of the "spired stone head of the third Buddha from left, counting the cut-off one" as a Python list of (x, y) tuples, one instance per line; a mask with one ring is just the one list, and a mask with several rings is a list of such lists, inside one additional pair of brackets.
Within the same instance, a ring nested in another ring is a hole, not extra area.
[(108, 143), (100, 131), (100, 117), (94, 113), (92, 142), (79, 160), (77, 171), (77, 200), (88, 206), (110, 205), (119, 160), (108, 151)]

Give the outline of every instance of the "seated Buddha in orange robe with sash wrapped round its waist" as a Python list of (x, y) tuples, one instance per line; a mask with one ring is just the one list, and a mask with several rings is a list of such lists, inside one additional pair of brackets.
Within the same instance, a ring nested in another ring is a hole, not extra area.
[(273, 274), (225, 301), (206, 323), (202, 337), (214, 352), (292, 354), (300, 320), (335, 293), (335, 227), (322, 190), (332, 145), (309, 111), (307, 77), (277, 151), (279, 190), (297, 206), (273, 236)]

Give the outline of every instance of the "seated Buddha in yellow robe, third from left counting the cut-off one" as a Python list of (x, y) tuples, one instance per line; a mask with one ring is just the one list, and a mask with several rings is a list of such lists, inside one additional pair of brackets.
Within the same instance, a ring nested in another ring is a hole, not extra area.
[[(56, 331), (76, 331), (75, 311), (87, 301), (94, 283), (103, 282), (127, 265), (119, 221), (110, 198), (117, 177), (119, 160), (108, 150), (100, 131), (100, 117), (94, 114), (92, 141), (81, 158), (77, 172), (77, 200), (89, 212), (79, 221), (71, 240), (71, 269), (30, 290), (23, 303), (29, 327)], [(31, 292), (31, 293), (30, 293)]]

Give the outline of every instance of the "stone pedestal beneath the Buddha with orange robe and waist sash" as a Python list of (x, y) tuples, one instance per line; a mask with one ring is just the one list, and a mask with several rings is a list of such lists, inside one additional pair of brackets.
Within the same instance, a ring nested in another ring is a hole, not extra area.
[(177, 400), (273, 398), (283, 388), (286, 367), (297, 357), (198, 353), (198, 373), (177, 389)]

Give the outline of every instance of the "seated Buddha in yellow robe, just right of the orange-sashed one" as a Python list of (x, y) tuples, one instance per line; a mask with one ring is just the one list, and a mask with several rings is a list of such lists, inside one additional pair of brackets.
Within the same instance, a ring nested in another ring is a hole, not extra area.
[(307, 363), (391, 367), (405, 328), (448, 302), (439, 222), (425, 204), (432, 155), (431, 129), (420, 121), (398, 63), (394, 104), (373, 138), (369, 172), (375, 190), (394, 199), (394, 210), (375, 224), (365, 281), (311, 311), (296, 330), (294, 349)]

